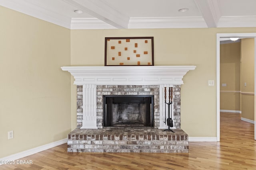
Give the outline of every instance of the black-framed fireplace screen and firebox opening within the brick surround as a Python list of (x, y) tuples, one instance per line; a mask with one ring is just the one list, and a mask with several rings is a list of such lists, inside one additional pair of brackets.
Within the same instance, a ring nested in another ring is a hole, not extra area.
[(103, 99), (104, 127), (154, 127), (153, 95), (106, 95)]

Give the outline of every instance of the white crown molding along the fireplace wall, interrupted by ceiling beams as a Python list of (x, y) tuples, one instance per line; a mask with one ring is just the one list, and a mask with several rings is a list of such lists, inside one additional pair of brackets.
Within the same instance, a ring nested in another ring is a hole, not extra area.
[[(223, 16), (218, 27), (256, 27), (256, 16)], [(202, 17), (130, 18), (129, 29), (147, 28), (208, 28)], [(116, 29), (97, 18), (72, 18), (71, 29)]]

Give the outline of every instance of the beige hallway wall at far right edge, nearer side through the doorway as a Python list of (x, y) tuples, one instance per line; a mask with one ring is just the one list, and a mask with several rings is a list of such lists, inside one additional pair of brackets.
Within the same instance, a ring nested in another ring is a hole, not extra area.
[(254, 121), (254, 38), (241, 40), (241, 91), (242, 117)]

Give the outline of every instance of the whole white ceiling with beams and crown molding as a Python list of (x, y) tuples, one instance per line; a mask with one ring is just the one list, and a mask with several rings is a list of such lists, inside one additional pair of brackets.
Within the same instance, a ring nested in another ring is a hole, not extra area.
[(256, 27), (256, 0), (0, 0), (0, 6), (69, 29)]

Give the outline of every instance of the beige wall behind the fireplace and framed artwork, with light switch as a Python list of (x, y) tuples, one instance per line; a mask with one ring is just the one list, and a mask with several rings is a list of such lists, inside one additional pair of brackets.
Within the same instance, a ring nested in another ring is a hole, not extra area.
[[(183, 80), (181, 128), (190, 137), (216, 137), (216, 33), (255, 32), (255, 28), (71, 30), (72, 66), (103, 66), (104, 37), (154, 37), (155, 65), (196, 65)], [(76, 86), (72, 86), (72, 98)], [(76, 128), (72, 101), (72, 129)]]

